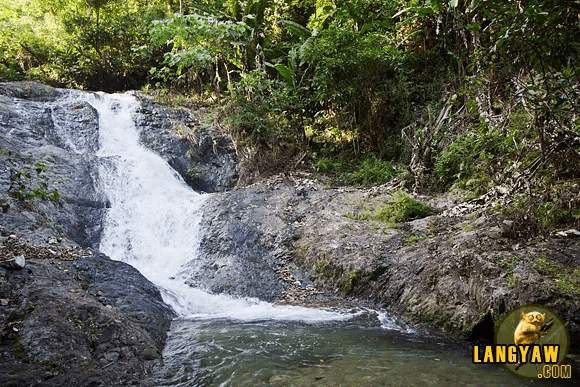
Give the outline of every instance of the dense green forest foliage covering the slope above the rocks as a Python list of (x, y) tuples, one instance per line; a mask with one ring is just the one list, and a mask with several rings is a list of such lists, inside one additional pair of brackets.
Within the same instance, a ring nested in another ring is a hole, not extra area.
[(579, 59), (577, 0), (0, 5), (1, 80), (211, 96), (246, 181), (495, 192), (530, 230), (580, 218)]

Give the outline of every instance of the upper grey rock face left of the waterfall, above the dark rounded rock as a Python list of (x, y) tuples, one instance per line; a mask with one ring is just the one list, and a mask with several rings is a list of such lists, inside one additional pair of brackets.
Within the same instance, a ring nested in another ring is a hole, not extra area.
[[(107, 201), (95, 190), (98, 116), (86, 103), (55, 102), (64, 91), (34, 83), (0, 84), (0, 187), (9, 207), (3, 225), (30, 240), (66, 235), (83, 246), (98, 243)], [(17, 98), (16, 98), (17, 97)], [(28, 99), (22, 99), (28, 98)], [(37, 163), (46, 167), (37, 172)], [(14, 199), (18, 181), (31, 193), (58, 191), (58, 200)]]

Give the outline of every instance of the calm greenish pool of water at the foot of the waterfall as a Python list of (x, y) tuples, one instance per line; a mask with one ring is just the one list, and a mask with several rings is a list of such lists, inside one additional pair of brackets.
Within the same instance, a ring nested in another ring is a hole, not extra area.
[[(349, 322), (177, 320), (159, 386), (529, 386), (466, 348)], [(363, 320), (361, 320), (363, 319)]]

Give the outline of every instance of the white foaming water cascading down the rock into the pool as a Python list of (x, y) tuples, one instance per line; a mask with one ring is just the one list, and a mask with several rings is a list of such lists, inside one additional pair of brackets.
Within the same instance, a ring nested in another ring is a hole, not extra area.
[(110, 201), (100, 250), (137, 268), (182, 317), (242, 321), (326, 321), (349, 316), (209, 294), (185, 284), (182, 267), (196, 260), (200, 208), (194, 192), (161, 157), (139, 144), (138, 103), (128, 94), (83, 93), (99, 113), (99, 185)]

